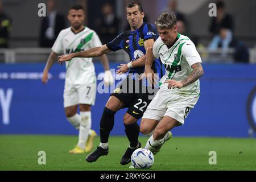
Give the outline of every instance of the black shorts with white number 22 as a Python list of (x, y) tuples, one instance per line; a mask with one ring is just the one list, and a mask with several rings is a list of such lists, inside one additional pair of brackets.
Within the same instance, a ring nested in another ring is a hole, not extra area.
[(122, 101), (125, 104), (123, 108), (128, 107), (128, 114), (140, 119), (152, 101), (154, 93), (154, 88), (142, 85), (142, 81), (126, 78), (111, 96)]

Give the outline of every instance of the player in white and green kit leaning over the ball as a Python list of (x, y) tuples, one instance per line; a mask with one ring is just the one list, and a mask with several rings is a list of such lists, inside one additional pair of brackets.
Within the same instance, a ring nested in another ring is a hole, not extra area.
[[(160, 57), (166, 75), (160, 80), (160, 89), (148, 105), (141, 121), (141, 133), (151, 135), (146, 148), (156, 154), (170, 130), (184, 124), (189, 111), (200, 96), (199, 78), (204, 75), (201, 58), (193, 42), (177, 32), (176, 16), (162, 13), (155, 22), (159, 38), (148, 48), (144, 75), (152, 78), (152, 61)], [(150, 76), (151, 75), (151, 76)]]

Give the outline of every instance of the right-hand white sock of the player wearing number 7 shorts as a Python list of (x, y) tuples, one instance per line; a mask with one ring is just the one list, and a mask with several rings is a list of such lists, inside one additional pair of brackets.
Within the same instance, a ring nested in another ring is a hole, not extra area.
[(81, 123), (79, 128), (79, 142), (77, 143), (77, 146), (84, 149), (85, 142), (89, 135), (90, 127), (92, 126), (92, 119), (90, 111), (80, 112), (80, 114)]

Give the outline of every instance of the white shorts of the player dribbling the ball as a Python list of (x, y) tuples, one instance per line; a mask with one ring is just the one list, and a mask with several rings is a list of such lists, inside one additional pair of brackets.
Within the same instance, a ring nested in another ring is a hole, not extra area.
[(185, 97), (162, 88), (150, 102), (142, 118), (160, 121), (165, 116), (176, 119), (182, 125), (199, 97)]

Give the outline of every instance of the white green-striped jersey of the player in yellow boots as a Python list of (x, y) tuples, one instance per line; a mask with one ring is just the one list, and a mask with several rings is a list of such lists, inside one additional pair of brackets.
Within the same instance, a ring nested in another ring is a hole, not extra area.
[[(102, 43), (95, 31), (88, 27), (74, 33), (71, 27), (62, 30), (57, 37), (52, 51), (67, 55), (73, 52), (85, 51), (93, 47), (101, 47)], [(89, 84), (96, 81), (92, 58), (77, 57), (66, 62), (65, 81), (70, 84)]]

